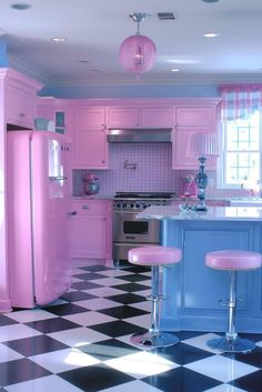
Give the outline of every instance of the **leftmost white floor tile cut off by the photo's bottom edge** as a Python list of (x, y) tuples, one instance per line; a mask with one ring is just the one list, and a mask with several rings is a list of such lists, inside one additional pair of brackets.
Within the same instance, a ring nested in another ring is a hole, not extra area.
[(79, 388), (60, 379), (58, 375), (48, 375), (31, 381), (4, 386), (8, 392), (82, 392)]

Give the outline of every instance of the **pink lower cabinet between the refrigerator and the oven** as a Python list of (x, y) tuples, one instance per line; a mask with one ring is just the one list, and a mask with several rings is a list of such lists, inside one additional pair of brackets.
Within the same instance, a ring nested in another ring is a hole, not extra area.
[(73, 202), (71, 257), (103, 259), (112, 263), (111, 202), (79, 200)]

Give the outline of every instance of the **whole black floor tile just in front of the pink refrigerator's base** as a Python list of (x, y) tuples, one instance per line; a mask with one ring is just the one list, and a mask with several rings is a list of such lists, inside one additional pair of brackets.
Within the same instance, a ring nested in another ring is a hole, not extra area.
[(51, 333), (57, 331), (70, 330), (72, 328), (79, 328), (79, 324), (60, 318), (31, 321), (24, 324), (42, 333)]

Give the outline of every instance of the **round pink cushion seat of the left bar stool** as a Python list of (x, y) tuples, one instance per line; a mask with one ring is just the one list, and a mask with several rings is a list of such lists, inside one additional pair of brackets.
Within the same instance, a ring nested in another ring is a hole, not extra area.
[(139, 265), (174, 264), (181, 260), (181, 250), (161, 245), (133, 248), (128, 258), (130, 263)]

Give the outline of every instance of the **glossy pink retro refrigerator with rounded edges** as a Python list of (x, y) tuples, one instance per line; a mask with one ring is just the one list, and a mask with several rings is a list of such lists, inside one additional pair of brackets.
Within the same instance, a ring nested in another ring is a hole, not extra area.
[(34, 308), (71, 285), (70, 143), (56, 132), (7, 133), (11, 305)]

